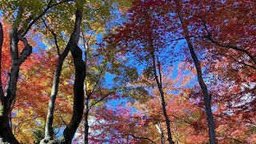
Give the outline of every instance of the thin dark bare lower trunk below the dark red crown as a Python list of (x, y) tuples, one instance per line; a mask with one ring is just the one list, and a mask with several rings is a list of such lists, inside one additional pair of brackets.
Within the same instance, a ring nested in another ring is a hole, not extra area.
[(159, 73), (159, 77), (160, 80), (158, 79), (158, 74), (157, 74), (157, 67), (156, 67), (156, 62), (155, 62), (155, 56), (154, 56), (154, 51), (152, 51), (151, 53), (152, 56), (152, 61), (153, 61), (153, 69), (154, 69), (154, 78), (158, 84), (158, 90), (160, 92), (160, 96), (161, 96), (161, 104), (162, 104), (162, 112), (164, 117), (166, 118), (166, 126), (167, 126), (167, 133), (168, 133), (168, 142), (170, 144), (174, 144), (174, 141), (171, 138), (171, 132), (170, 132), (170, 120), (168, 118), (167, 112), (166, 112), (166, 102), (165, 102), (165, 95), (164, 92), (162, 90), (162, 76), (161, 76), (161, 71)]

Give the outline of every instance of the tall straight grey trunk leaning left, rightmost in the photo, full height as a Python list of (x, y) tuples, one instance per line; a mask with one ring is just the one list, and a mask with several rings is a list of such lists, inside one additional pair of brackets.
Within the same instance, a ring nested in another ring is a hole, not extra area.
[(190, 55), (193, 59), (194, 66), (197, 70), (198, 83), (199, 83), (199, 85), (201, 86), (201, 89), (202, 89), (202, 94), (203, 94), (205, 107), (206, 107), (207, 122), (208, 122), (208, 127), (209, 127), (210, 143), (215, 144), (216, 143), (216, 136), (215, 136), (215, 130), (214, 130), (214, 116), (212, 114), (212, 110), (211, 110), (211, 106), (210, 106), (211, 98), (210, 98), (210, 95), (208, 93), (206, 83), (204, 82), (204, 80), (202, 78), (201, 64), (198, 61), (197, 55), (195, 54), (193, 43), (192, 43), (191, 39), (189, 38), (189, 29), (186, 26), (186, 24), (184, 23), (184, 18), (182, 16), (182, 11), (181, 11), (182, 6), (180, 6), (178, 0), (175, 0), (175, 3), (176, 3), (176, 10), (177, 10), (178, 18), (179, 18), (179, 20), (182, 24), (183, 34), (186, 37), (186, 43), (189, 47)]

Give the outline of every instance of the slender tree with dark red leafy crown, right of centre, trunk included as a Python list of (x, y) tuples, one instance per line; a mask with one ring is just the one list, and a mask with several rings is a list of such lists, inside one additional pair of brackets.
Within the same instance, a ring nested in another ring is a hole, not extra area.
[[(154, 3), (155, 6), (151, 7), (151, 3)], [(162, 99), (162, 111), (166, 118), (168, 142), (174, 143), (171, 138), (170, 120), (166, 114), (165, 92), (162, 90), (161, 63), (159, 60), (158, 63), (156, 62), (159, 59), (159, 56), (156, 56), (156, 54), (161, 55), (162, 47), (167, 46), (165, 40), (168, 38), (166, 33), (168, 29), (163, 25), (165, 25), (165, 22), (170, 22), (170, 18), (167, 16), (163, 20), (158, 17), (158, 14), (154, 14), (155, 11), (160, 9), (157, 6), (162, 4), (164, 2), (134, 2), (134, 6), (129, 11), (129, 22), (125, 26), (120, 27), (118, 33), (112, 36), (112, 38), (119, 46), (125, 45), (126, 48), (124, 50), (134, 54), (138, 61), (148, 62), (148, 70), (151, 70), (148, 73), (154, 75)]]

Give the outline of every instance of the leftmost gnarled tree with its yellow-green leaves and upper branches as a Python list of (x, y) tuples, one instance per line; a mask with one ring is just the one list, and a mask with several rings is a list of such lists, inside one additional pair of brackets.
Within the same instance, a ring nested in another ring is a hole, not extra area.
[[(12, 142), (18, 143), (17, 139), (14, 137), (14, 134), (10, 127), (10, 114), (11, 114), (11, 106), (16, 98), (17, 91), (17, 82), (18, 82), (18, 73), (20, 70), (20, 66), (32, 53), (32, 46), (30, 46), (29, 42), (25, 38), (28, 34), (31, 26), (34, 25), (35, 22), (38, 21), (42, 15), (46, 14), (50, 8), (57, 6), (59, 3), (49, 3), (44, 4), (44, 2), (38, 3), (38, 6), (44, 7), (45, 9), (34, 10), (35, 7), (30, 7), (26, 9), (26, 6), (30, 6), (29, 2), (1, 2), (2, 10), (6, 11), (6, 16), (10, 16), (17, 10), (17, 14), (13, 15), (14, 20), (11, 23), (10, 30), (10, 54), (11, 54), (11, 69), (9, 73), (9, 80), (6, 88), (6, 94), (3, 95), (1, 92), (1, 102), (3, 105), (3, 114), (0, 117), (0, 137), (3, 138), (4, 142)], [(40, 7), (41, 8), (41, 7)], [(36, 9), (36, 8), (35, 8)], [(8, 11), (9, 10), (9, 11)], [(23, 17), (27, 12), (32, 11), (29, 17)], [(34, 11), (33, 11), (34, 10)], [(23, 43), (22, 52), (19, 53), (18, 42), (21, 41)]]

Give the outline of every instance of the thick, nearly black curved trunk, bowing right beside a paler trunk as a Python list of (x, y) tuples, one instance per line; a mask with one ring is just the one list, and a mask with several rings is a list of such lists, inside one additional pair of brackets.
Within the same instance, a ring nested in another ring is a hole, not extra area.
[[(81, 3), (80, 3), (81, 2)], [(79, 123), (82, 120), (82, 114), (84, 109), (84, 81), (86, 78), (85, 74), (85, 63), (82, 60), (82, 50), (78, 47), (78, 40), (80, 34), (80, 26), (82, 23), (82, 0), (77, 3), (77, 10), (75, 14), (75, 24), (73, 33), (70, 36), (70, 41), (66, 47), (69, 47), (71, 54), (74, 59), (75, 68), (75, 79), (74, 79), (74, 106), (72, 118), (66, 126), (61, 138), (44, 141), (41, 143), (71, 143), (72, 138), (76, 130), (78, 129)]]

